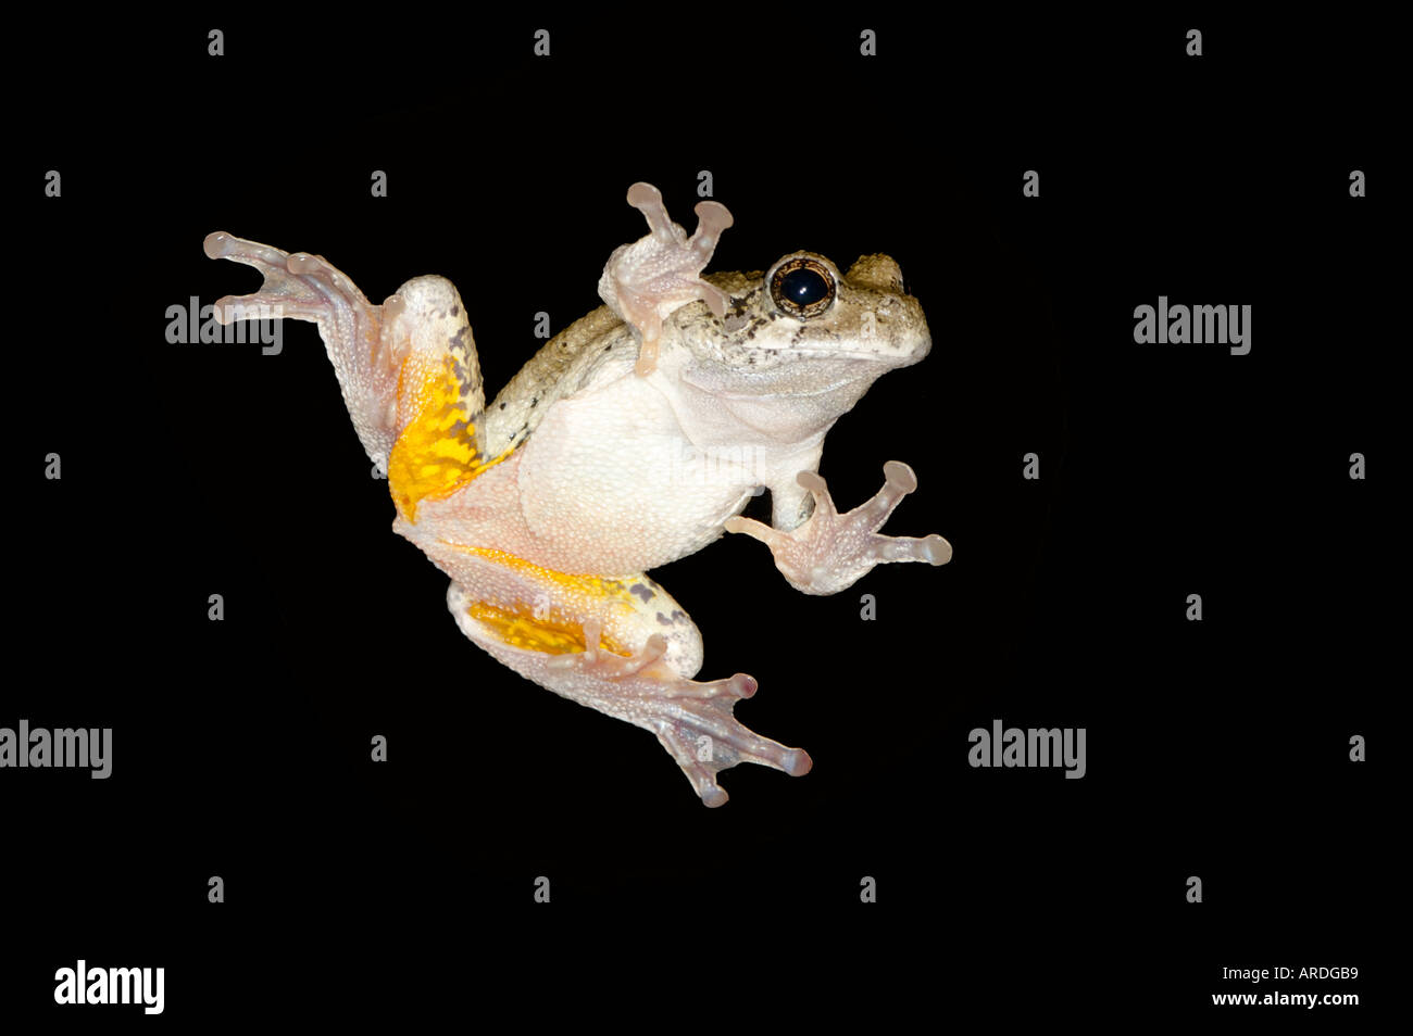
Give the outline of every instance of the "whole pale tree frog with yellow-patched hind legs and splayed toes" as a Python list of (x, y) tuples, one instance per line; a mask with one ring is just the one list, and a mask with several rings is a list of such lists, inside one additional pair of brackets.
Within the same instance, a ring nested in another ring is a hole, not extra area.
[[(380, 305), (322, 255), (215, 231), (209, 258), (263, 284), (215, 303), (220, 323), (273, 315), (318, 326), (393, 531), (449, 577), (461, 632), (521, 677), (651, 731), (711, 807), (742, 762), (791, 776), (803, 748), (735, 718), (757, 682), (698, 682), (702, 637), (647, 573), (726, 534), (763, 542), (784, 579), (834, 594), (880, 563), (951, 560), (952, 546), (879, 532), (917, 488), (907, 464), (839, 512), (820, 462), (827, 432), (882, 374), (931, 349), (899, 264), (848, 271), (793, 251), (764, 271), (704, 275), (733, 224), (716, 200), (687, 231), (633, 183), (649, 226), (603, 267), (603, 306), (550, 339), (486, 404), (466, 306), (439, 275)], [(770, 522), (742, 512), (769, 491)], [(565, 779), (575, 775), (565, 766)]]

